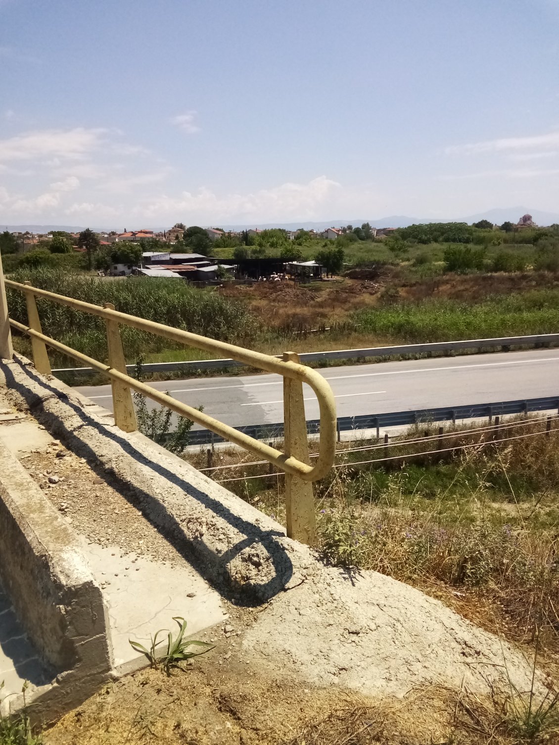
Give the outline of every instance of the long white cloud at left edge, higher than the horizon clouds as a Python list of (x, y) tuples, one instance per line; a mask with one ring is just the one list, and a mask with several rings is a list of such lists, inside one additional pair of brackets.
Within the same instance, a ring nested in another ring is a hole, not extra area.
[(42, 130), (0, 140), (0, 162), (31, 159), (82, 159), (98, 148), (106, 129)]

